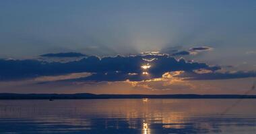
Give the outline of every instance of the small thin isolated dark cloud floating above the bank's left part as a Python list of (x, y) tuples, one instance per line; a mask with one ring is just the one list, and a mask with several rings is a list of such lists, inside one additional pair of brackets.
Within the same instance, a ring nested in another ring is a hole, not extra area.
[(55, 57), (55, 58), (74, 58), (74, 57), (83, 57), (85, 54), (77, 52), (65, 52), (65, 53), (55, 53), (55, 54), (42, 54), (41, 57)]

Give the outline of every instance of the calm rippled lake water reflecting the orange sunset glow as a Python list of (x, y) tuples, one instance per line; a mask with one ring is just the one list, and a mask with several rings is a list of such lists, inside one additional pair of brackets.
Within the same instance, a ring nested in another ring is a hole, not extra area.
[(256, 100), (0, 100), (0, 133), (256, 133)]

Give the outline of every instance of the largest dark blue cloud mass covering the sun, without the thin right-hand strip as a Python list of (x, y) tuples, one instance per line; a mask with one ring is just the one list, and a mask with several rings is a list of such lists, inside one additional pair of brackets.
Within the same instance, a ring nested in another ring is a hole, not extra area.
[[(156, 59), (146, 61), (143, 59)], [(150, 64), (143, 69), (142, 65)], [(90, 72), (92, 76), (80, 78), (94, 81), (145, 80), (160, 78), (165, 72), (192, 71), (197, 69), (218, 70), (218, 66), (186, 62), (168, 55), (115, 56), (98, 58), (89, 56), (72, 62), (43, 62), (39, 60), (0, 60), (0, 80), (57, 76), (69, 73)], [(148, 72), (143, 75), (143, 72)]]

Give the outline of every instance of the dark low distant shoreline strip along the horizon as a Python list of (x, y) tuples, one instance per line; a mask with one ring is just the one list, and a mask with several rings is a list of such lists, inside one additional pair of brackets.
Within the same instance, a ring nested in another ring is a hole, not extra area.
[(241, 94), (15, 94), (0, 93), (0, 100), (22, 99), (121, 99), (121, 98), (256, 98), (256, 95)]

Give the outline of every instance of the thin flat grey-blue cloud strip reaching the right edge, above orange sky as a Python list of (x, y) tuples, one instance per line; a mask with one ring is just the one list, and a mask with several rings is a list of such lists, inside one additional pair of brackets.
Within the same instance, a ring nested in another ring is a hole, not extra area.
[(249, 78), (256, 77), (255, 71), (238, 71), (238, 72), (210, 72), (198, 74), (196, 72), (185, 72), (179, 77), (184, 77), (187, 80), (222, 80), (232, 78)]

